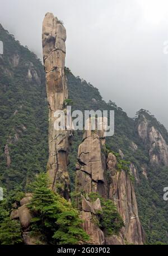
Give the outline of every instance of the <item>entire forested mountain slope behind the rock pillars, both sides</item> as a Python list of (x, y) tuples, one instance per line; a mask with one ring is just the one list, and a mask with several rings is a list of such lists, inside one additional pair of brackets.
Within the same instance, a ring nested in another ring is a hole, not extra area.
[[(0, 40), (4, 44), (4, 54), (0, 55), (0, 186), (7, 191), (25, 191), (35, 175), (46, 170), (48, 160), (45, 73), (34, 53), (1, 25)], [(72, 109), (115, 110), (115, 134), (106, 138), (106, 145), (123, 152), (124, 159), (132, 163), (139, 217), (148, 242), (168, 243), (168, 208), (162, 199), (168, 186), (166, 129), (143, 109), (135, 119), (129, 118), (113, 103), (115, 99), (107, 104), (97, 88), (74, 77), (68, 68), (65, 71)], [(82, 132), (74, 135), (69, 164), (72, 191)]]

